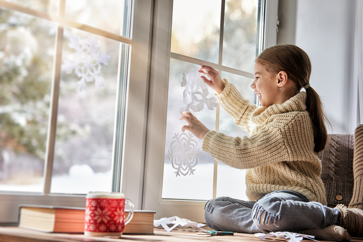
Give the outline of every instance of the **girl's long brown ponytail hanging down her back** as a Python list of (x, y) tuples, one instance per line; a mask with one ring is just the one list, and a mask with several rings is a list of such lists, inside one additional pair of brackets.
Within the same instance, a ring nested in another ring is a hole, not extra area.
[(314, 151), (316, 153), (324, 150), (328, 140), (328, 132), (325, 126), (326, 117), (322, 109), (322, 103), (319, 95), (312, 87), (306, 89), (306, 110), (313, 125), (314, 133)]

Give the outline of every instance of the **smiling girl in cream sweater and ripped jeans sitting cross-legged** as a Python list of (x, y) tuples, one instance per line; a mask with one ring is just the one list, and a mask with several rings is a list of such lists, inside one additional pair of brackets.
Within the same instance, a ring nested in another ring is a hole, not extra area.
[(180, 117), (188, 123), (183, 131), (203, 139), (203, 150), (231, 167), (248, 169), (246, 194), (251, 201), (209, 200), (207, 225), (241, 233), (305, 232), (336, 241), (363, 236), (363, 210), (326, 206), (316, 153), (327, 143), (327, 130), (319, 95), (309, 84), (309, 56), (297, 46), (278, 45), (264, 50), (255, 62), (251, 88), (261, 107), (250, 105), (212, 67), (199, 70), (210, 78), (201, 77), (219, 104), (250, 138), (210, 131), (190, 112)]

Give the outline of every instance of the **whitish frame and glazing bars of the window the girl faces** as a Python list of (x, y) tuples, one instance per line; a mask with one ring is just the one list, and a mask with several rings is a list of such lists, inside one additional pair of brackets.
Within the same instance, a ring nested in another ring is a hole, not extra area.
[[(221, 60), (216, 65), (171, 53), (172, 6), (172, 1), (155, 0), (143, 209), (156, 211), (158, 218), (176, 215), (203, 222), (206, 201), (162, 199), (170, 57), (177, 57), (197, 65), (210, 65), (219, 71), (251, 78), (254, 78), (254, 74), (224, 67), (221, 65)], [(265, 14), (261, 16), (263, 18), (261, 21), (265, 23), (265, 29), (263, 33), (260, 33), (264, 40), (261, 43), (262, 48), (276, 45), (278, 0), (266, 0), (264, 6)], [(224, 14), (223, 10), (222, 14)], [(216, 162), (214, 164), (216, 166)], [(214, 197), (216, 194), (215, 173), (216, 169), (214, 170)]]

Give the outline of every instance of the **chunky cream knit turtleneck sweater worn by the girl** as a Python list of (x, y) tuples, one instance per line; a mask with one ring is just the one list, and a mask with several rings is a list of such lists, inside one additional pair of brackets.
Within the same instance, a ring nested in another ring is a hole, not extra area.
[(313, 129), (306, 111), (306, 93), (299, 92), (284, 104), (257, 108), (226, 79), (224, 82), (225, 89), (217, 99), (251, 137), (210, 131), (204, 137), (203, 150), (231, 167), (249, 169), (246, 194), (250, 200), (289, 190), (327, 205), (321, 163), (314, 152)]

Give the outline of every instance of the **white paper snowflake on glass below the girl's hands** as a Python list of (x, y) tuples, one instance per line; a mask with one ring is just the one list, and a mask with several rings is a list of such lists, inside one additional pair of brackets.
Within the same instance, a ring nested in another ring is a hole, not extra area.
[(186, 176), (193, 174), (195, 167), (198, 163), (198, 157), (200, 155), (199, 149), (197, 148), (198, 143), (192, 139), (193, 134), (181, 133), (175, 134), (174, 141), (170, 144), (169, 160), (173, 168), (176, 170), (176, 176)]

